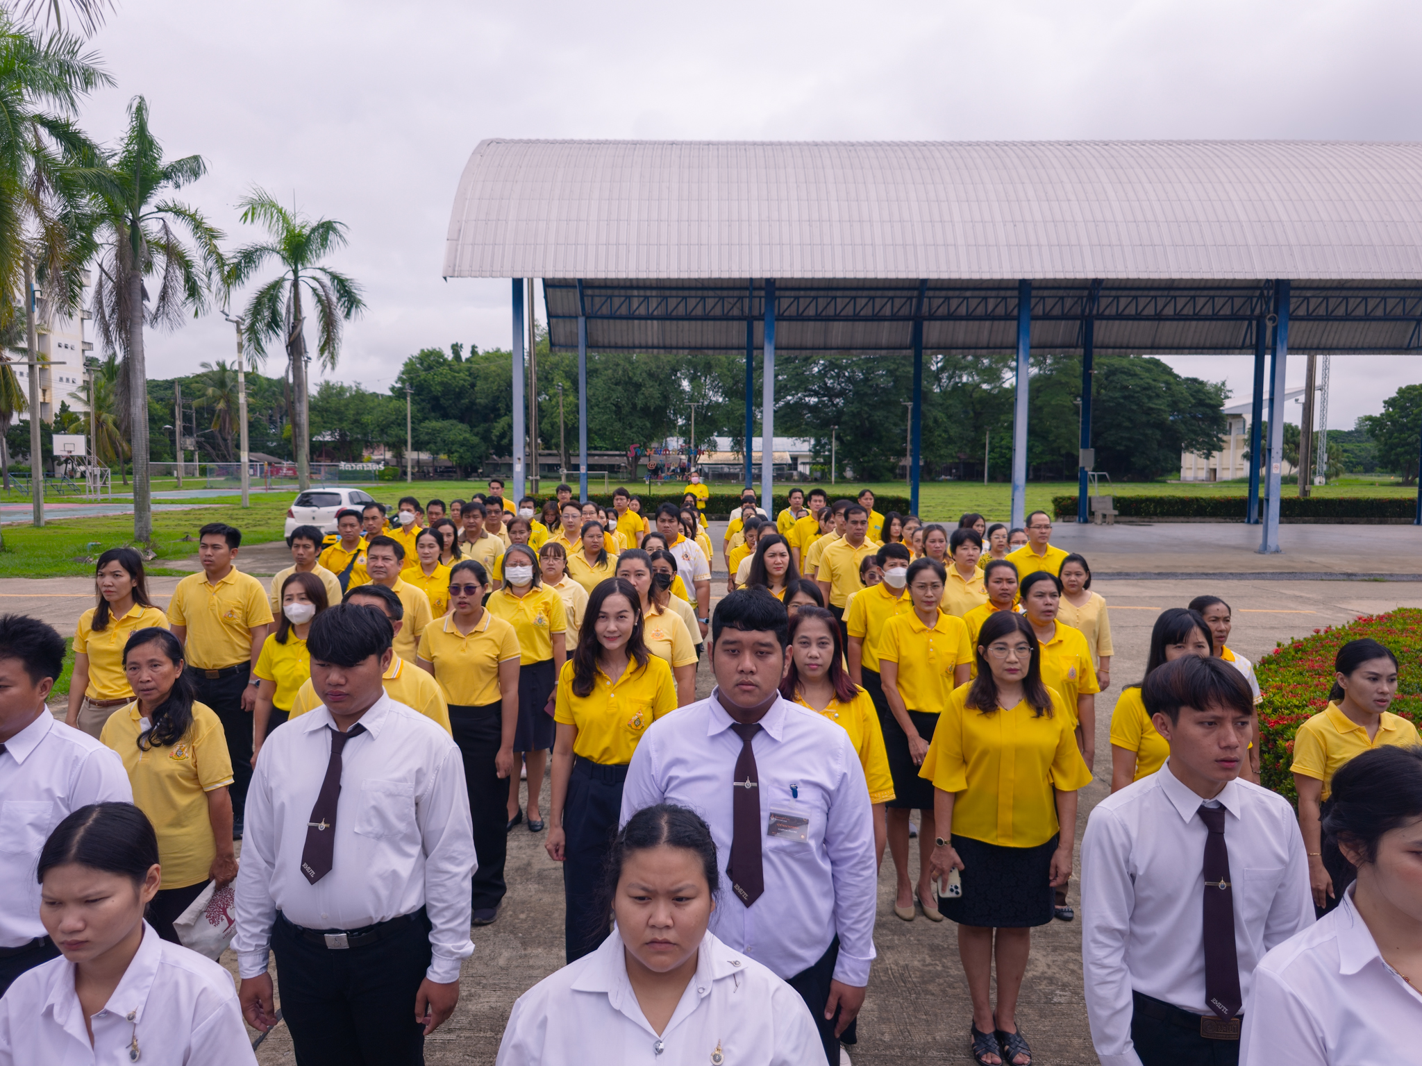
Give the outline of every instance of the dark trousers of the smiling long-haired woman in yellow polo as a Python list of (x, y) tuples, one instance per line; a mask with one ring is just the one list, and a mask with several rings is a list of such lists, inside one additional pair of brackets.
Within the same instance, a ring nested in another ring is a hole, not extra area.
[(617, 834), (626, 766), (587, 759), (573, 763), (563, 803), (563, 947), (567, 961), (592, 954), (607, 938), (607, 900), (600, 900), (603, 863)]

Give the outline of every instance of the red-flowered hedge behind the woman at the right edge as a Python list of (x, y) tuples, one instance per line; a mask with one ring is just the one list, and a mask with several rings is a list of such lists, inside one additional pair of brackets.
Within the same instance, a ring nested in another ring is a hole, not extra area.
[(1290, 770), (1294, 733), (1304, 719), (1328, 706), (1338, 648), (1362, 637), (1371, 637), (1398, 657), (1398, 698), (1392, 712), (1422, 726), (1422, 610), (1404, 607), (1280, 644), (1254, 664), (1264, 694), (1258, 706), (1258, 762), (1264, 787), (1290, 803), (1298, 802)]

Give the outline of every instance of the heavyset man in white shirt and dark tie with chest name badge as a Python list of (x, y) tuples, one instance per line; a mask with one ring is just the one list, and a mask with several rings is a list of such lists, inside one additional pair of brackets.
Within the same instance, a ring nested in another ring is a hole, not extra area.
[(779, 695), (788, 631), (764, 590), (717, 604), (717, 688), (647, 728), (621, 822), (656, 803), (705, 819), (731, 887), (712, 932), (801, 994), (838, 1066), (875, 957), (873, 813), (849, 733)]

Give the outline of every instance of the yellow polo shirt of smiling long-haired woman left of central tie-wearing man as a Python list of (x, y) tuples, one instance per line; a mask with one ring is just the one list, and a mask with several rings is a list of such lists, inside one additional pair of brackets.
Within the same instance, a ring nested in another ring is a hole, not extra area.
[(657, 655), (648, 655), (646, 667), (629, 662), (617, 681), (597, 667), (593, 691), (586, 696), (573, 694), (573, 664), (565, 662), (553, 721), (577, 728), (573, 755), (579, 759), (626, 766), (647, 726), (675, 709), (677, 682), (671, 667)]

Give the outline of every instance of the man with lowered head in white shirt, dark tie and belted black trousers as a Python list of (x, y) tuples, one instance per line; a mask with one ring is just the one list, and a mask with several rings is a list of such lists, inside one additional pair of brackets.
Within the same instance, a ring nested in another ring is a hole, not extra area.
[(390, 620), (343, 604), (307, 637), (323, 706), (262, 748), (236, 888), (242, 1009), (301, 1066), (424, 1062), (469, 942), (474, 833), (449, 733), (385, 695)]

